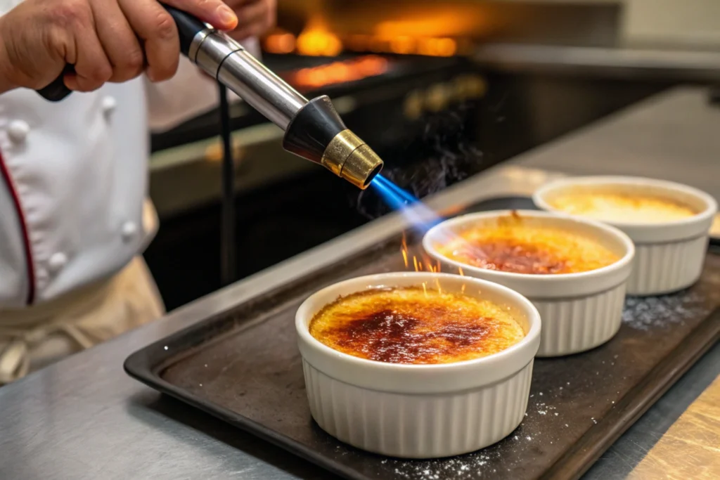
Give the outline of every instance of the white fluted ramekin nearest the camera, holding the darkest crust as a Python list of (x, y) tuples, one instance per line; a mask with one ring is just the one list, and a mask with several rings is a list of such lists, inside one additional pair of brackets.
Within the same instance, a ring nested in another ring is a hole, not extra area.
[[(439, 281), (446, 291), (506, 305), (525, 330), (516, 345), (475, 360), (405, 365), (365, 360), (312, 338), (310, 320), (338, 296)], [(540, 316), (504, 286), (445, 273), (382, 273), (310, 296), (295, 317), (310, 412), (325, 432), (363, 450), (402, 458), (459, 455), (497, 442), (523, 420)]]

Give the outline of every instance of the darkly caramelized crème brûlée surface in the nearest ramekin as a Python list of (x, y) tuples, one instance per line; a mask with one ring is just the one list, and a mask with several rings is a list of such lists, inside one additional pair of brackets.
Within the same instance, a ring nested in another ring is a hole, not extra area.
[(334, 350), (388, 363), (454, 363), (525, 336), (508, 309), (430, 286), (370, 289), (325, 305), (310, 335)]

